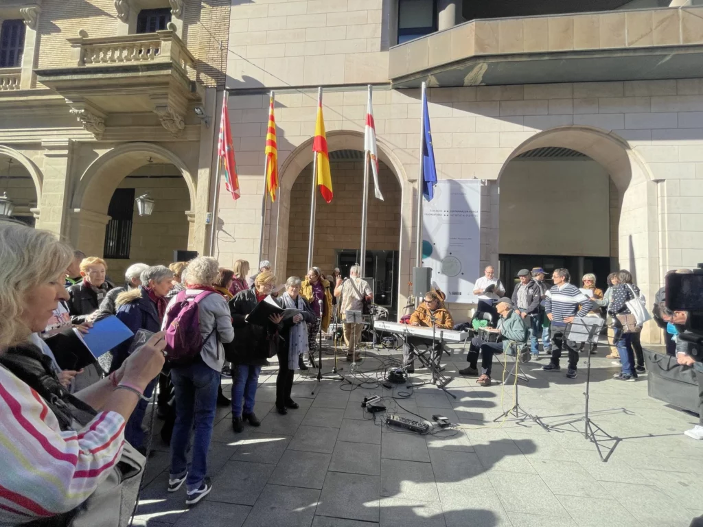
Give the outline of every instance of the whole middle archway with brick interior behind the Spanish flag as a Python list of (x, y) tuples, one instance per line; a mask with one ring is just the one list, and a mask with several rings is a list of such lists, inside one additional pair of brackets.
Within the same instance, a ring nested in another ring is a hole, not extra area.
[[(264, 258), (275, 266), (276, 275), (304, 275), (307, 271), (309, 214), (311, 199), (311, 141), (300, 145), (280, 167), (280, 203), (266, 209)], [(328, 148), (335, 197), (326, 204), (320, 197), (316, 208), (314, 264), (325, 273), (340, 261), (356, 259), (361, 238), (361, 197), (363, 189), (363, 134), (354, 131), (331, 131)], [(378, 141), (382, 167), (380, 186), (385, 201), (373, 197), (370, 178), (367, 263), (383, 275), (376, 278), (381, 289), (392, 281), (387, 305), (404, 305), (411, 276), (411, 209), (402, 207), (412, 199), (413, 186), (408, 183), (401, 163)], [(408, 197), (409, 196), (409, 197)], [(381, 232), (382, 231), (382, 232)], [(340, 260), (341, 259), (341, 260)], [(344, 263), (342, 263), (344, 265)], [(372, 267), (368, 266), (369, 270)], [(370, 274), (368, 271), (367, 274)], [(392, 280), (390, 280), (390, 277)], [(378, 287), (375, 287), (378, 290)], [(378, 295), (377, 295), (378, 297)]]

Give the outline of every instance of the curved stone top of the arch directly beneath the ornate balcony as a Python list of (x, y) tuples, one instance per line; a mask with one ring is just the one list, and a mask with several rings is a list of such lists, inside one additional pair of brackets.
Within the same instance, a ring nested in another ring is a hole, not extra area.
[(106, 214), (115, 188), (122, 179), (145, 164), (145, 154), (157, 162), (173, 164), (179, 169), (188, 186), (191, 210), (195, 209), (196, 185), (193, 174), (174, 152), (155, 143), (124, 143), (98, 157), (81, 176), (73, 195), (72, 208)]

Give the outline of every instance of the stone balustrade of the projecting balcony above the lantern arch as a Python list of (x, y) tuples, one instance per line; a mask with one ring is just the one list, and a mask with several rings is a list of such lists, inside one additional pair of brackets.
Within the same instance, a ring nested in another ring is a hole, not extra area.
[(68, 40), (73, 48), (72, 60), (78, 66), (171, 62), (187, 71), (195, 63), (183, 41), (170, 30)]

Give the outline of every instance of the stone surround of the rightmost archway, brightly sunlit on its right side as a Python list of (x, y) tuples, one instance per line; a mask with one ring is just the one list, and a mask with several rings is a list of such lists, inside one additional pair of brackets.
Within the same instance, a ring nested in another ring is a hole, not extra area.
[[(515, 148), (503, 163), (498, 183), (511, 160), (542, 147), (570, 148), (591, 157), (604, 167), (619, 191), (618, 259), (620, 268), (633, 272), (647, 301), (660, 287), (657, 188), (647, 165), (623, 138), (591, 126), (559, 126), (531, 136)], [(496, 187), (496, 194), (498, 188)], [(494, 197), (498, 202), (498, 197)], [(491, 214), (498, 214), (498, 207)], [(495, 223), (497, 225), (497, 222)], [(498, 230), (491, 230), (491, 254), (498, 254)], [(495, 244), (495, 245), (494, 245)], [(497, 262), (496, 262), (497, 263)], [(647, 327), (645, 327), (647, 330)], [(650, 327), (645, 341), (658, 341), (659, 331)]]

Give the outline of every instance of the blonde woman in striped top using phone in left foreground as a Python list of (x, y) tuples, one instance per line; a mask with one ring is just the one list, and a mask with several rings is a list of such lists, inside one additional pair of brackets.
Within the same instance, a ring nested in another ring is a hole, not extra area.
[(0, 220), (1, 525), (63, 525), (76, 514), (98, 525), (105, 509), (134, 507), (121, 500), (136, 495), (141, 478), (118, 476), (138, 475), (144, 457), (125, 443), (124, 423), (161, 370), (165, 341), (155, 334), (110, 377), (67, 393), (29, 337), (68, 298), (64, 276), (72, 259), (52, 233)]

